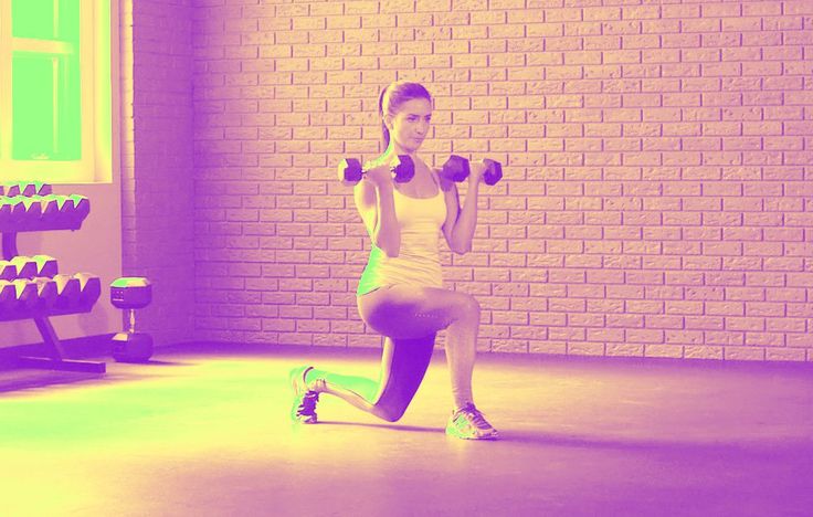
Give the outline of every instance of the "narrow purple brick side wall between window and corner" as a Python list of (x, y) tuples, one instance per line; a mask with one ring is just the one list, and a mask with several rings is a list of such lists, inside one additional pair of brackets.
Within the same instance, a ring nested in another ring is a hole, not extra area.
[(122, 3), (123, 270), (152, 282), (139, 329), (160, 346), (193, 333), (191, 0)]

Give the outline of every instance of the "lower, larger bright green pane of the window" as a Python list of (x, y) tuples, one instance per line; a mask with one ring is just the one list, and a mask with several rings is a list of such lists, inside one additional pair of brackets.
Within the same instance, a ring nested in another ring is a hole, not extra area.
[(12, 59), (12, 158), (82, 158), (78, 60), (74, 55), (14, 52)]

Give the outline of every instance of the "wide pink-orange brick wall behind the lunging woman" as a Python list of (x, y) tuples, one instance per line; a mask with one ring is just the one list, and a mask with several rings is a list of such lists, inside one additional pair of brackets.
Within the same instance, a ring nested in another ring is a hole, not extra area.
[[(813, 2), (225, 1), (193, 9), (199, 337), (378, 346), (345, 155), (378, 93), (489, 156), (450, 287), (484, 350), (813, 360)], [(465, 194), (465, 192), (463, 192)]]

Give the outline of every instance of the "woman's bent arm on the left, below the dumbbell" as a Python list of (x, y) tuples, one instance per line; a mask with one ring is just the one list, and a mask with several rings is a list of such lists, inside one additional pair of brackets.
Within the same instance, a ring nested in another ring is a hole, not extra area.
[(392, 193), (395, 187), (388, 166), (377, 169), (381, 170), (369, 170), (365, 175), (355, 188), (353, 198), (372, 243), (387, 256), (395, 257), (401, 247), (401, 230)]

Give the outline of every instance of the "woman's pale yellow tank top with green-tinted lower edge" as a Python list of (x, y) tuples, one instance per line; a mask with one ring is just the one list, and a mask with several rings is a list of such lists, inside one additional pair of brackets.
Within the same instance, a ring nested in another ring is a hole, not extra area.
[(437, 190), (432, 198), (419, 199), (393, 189), (401, 247), (398, 256), (391, 258), (376, 244), (372, 245), (357, 296), (394, 284), (443, 287), (437, 241), (446, 220), (446, 201), (443, 191)]

